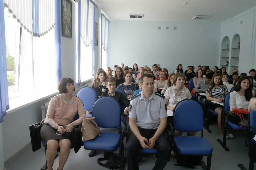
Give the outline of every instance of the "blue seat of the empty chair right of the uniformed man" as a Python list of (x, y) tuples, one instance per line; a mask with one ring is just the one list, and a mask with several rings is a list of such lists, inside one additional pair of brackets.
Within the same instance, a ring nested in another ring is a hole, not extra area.
[(210, 155), (211, 144), (203, 137), (179, 136), (174, 137), (174, 144), (177, 152), (185, 155)]

